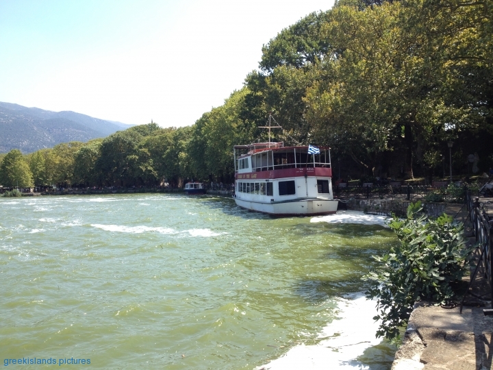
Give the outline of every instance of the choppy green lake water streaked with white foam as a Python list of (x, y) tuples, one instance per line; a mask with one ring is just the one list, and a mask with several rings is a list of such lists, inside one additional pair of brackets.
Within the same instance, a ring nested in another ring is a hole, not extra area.
[(357, 294), (396, 240), (375, 219), (273, 219), (179, 195), (6, 198), (0, 215), (2, 361), (390, 369), (375, 304)]

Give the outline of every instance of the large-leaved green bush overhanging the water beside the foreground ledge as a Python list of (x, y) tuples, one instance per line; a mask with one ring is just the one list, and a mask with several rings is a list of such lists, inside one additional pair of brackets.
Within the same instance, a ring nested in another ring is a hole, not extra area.
[(462, 223), (443, 214), (429, 219), (421, 202), (409, 204), (407, 219), (395, 215), (389, 225), (399, 238), (385, 256), (373, 256), (382, 264), (364, 277), (370, 282), (369, 299), (377, 297), (381, 320), (377, 337), (399, 337), (399, 327), (406, 325), (414, 302), (427, 299), (443, 303), (454, 297), (453, 285), (467, 270), (472, 249), (465, 247)]

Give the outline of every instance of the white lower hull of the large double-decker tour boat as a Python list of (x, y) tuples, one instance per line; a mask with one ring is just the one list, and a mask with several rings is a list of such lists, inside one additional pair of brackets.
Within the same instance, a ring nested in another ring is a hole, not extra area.
[(261, 203), (235, 198), (236, 204), (247, 210), (272, 214), (273, 216), (316, 216), (336, 213), (338, 200), (294, 199), (291, 201)]

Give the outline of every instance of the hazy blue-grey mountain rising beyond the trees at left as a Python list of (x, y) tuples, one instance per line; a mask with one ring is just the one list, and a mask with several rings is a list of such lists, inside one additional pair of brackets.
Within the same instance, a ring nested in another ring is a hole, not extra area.
[(69, 141), (103, 138), (134, 125), (96, 119), (70, 111), (51, 112), (0, 102), (0, 153), (31, 153)]

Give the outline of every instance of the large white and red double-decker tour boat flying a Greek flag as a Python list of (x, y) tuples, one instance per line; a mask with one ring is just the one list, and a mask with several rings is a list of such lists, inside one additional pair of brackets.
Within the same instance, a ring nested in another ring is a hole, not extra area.
[[(272, 127), (267, 127), (272, 128)], [(236, 204), (275, 216), (336, 213), (329, 147), (235, 145)]]

